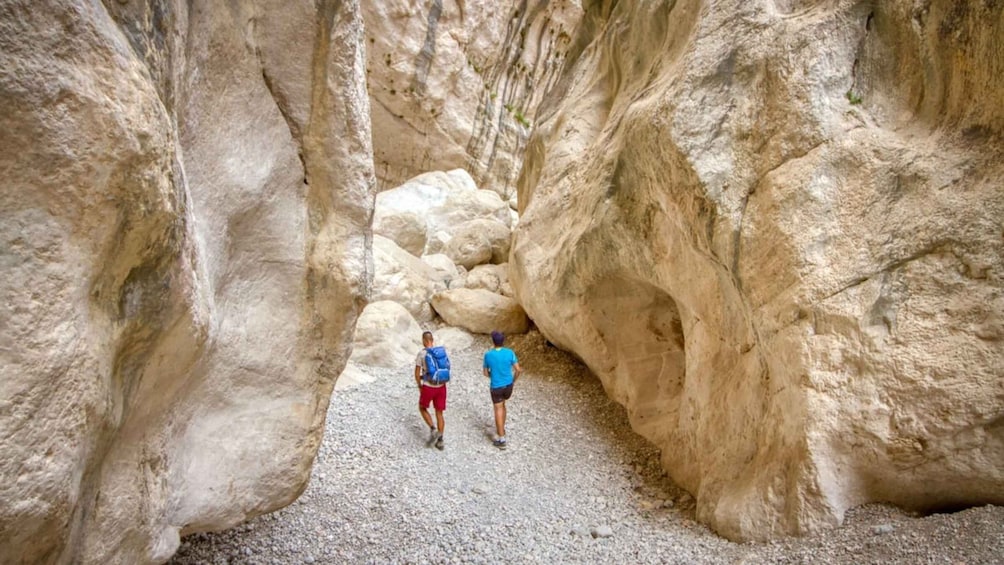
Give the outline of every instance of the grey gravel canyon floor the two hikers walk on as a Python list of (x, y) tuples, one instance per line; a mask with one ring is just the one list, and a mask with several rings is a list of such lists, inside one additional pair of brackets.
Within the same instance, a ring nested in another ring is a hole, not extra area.
[(823, 534), (736, 544), (694, 521), (623, 409), (539, 334), (509, 449), (491, 445), (480, 340), (452, 351), (446, 449), (426, 447), (408, 367), (335, 392), (309, 487), (282, 511), (183, 540), (189, 563), (1004, 563), (1004, 508), (927, 517), (881, 505)]

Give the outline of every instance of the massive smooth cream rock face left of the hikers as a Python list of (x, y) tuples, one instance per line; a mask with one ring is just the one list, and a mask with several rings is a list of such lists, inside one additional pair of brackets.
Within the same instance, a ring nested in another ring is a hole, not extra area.
[(305, 488), (373, 193), (321, 4), (0, 3), (0, 562), (163, 562)]

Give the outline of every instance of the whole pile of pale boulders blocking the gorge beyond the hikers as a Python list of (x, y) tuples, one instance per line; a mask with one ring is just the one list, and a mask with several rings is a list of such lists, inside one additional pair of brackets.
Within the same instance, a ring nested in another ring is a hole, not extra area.
[(529, 318), (509, 284), (515, 223), (510, 203), (478, 189), (462, 169), (426, 173), (380, 193), (370, 302), (356, 325), (350, 363), (407, 363), (421, 347), (420, 323), (453, 326), (437, 340), (449, 337), (458, 346), (470, 344), (468, 332), (526, 332)]

